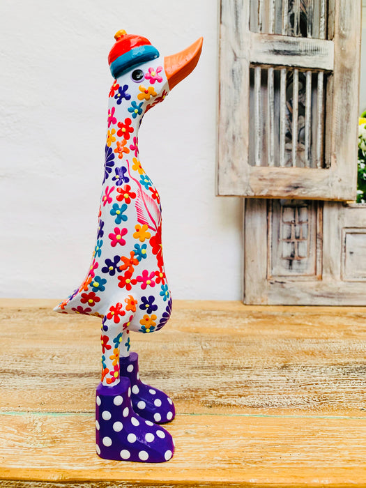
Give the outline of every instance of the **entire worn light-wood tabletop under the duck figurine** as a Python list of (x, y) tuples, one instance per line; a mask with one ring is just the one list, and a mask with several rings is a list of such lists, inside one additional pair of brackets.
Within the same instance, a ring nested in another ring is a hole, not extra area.
[(55, 302), (0, 300), (1, 488), (365, 486), (365, 308), (176, 301), (132, 337), (177, 410), (153, 465), (97, 457), (99, 321)]

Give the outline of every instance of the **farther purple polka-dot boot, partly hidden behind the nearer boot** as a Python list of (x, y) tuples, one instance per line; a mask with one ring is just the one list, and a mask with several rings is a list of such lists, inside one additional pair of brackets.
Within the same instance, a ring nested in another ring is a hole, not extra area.
[(132, 386), (132, 406), (136, 413), (155, 424), (163, 424), (174, 419), (176, 411), (168, 395), (157, 388), (148, 386), (139, 377), (139, 356), (130, 353), (120, 358), (121, 376), (127, 376)]

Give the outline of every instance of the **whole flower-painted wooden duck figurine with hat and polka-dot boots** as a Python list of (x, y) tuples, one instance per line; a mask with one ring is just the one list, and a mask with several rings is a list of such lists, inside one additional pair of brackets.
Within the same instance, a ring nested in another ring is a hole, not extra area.
[(141, 36), (119, 31), (109, 52), (105, 173), (93, 260), (84, 282), (56, 312), (102, 318), (102, 381), (96, 392), (96, 450), (105, 459), (164, 462), (174, 444), (159, 424), (174, 404), (139, 379), (130, 331), (159, 330), (171, 314), (158, 191), (139, 161), (138, 130), (148, 109), (195, 68), (202, 38), (161, 58)]

